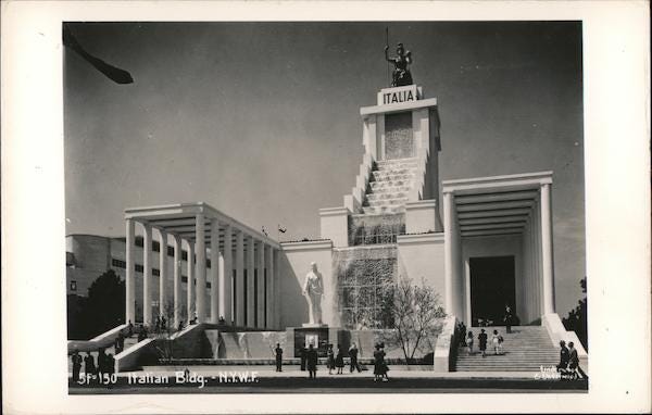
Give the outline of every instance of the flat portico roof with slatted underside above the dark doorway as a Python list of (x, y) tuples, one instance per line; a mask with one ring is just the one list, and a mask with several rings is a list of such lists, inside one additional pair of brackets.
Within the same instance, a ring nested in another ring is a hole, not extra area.
[(522, 235), (552, 172), (442, 181), (462, 237)]

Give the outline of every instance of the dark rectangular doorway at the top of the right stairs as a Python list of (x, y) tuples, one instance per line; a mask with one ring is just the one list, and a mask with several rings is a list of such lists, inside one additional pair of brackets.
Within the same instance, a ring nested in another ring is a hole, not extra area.
[(503, 325), (505, 304), (514, 310), (516, 300), (514, 256), (471, 257), (468, 267), (473, 325)]

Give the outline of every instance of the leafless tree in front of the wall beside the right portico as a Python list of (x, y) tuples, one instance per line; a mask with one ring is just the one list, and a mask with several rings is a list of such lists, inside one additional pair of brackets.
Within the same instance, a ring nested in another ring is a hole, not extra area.
[(440, 305), (439, 294), (425, 284), (413, 284), (411, 278), (400, 277), (393, 297), (387, 304), (393, 316), (392, 340), (401, 347), (405, 361), (414, 361), (414, 354), (425, 344), (430, 344), (441, 331), (446, 313)]

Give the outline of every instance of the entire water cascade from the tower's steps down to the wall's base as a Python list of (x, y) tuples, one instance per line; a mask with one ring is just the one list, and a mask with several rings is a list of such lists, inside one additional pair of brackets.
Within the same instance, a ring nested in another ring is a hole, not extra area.
[(398, 278), (397, 237), (405, 234), (405, 203), (417, 160), (378, 161), (372, 169), (362, 212), (349, 216), (349, 247), (335, 249), (340, 322), (347, 328), (383, 328), (387, 295)]

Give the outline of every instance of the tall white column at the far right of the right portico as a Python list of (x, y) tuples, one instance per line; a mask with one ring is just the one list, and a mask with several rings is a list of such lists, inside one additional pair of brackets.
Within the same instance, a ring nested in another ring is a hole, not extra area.
[(550, 184), (541, 186), (541, 262), (543, 271), (543, 313), (554, 313), (554, 265), (552, 251), (552, 203)]

